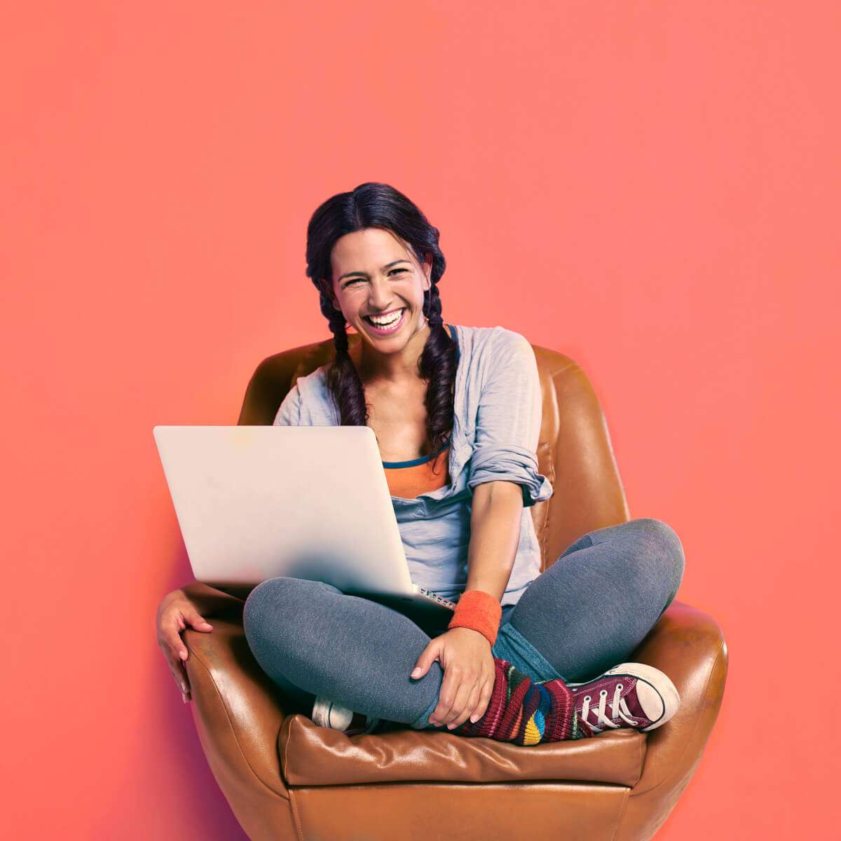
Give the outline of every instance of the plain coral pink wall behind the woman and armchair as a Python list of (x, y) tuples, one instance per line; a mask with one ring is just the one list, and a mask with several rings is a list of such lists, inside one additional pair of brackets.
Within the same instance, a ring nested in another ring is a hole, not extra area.
[(370, 180), (442, 231), (448, 322), (584, 367), (722, 625), (658, 838), (833, 833), (838, 9), (8, 4), (3, 834), (244, 837), (156, 644), (191, 575), (151, 430), (329, 336), (305, 225)]

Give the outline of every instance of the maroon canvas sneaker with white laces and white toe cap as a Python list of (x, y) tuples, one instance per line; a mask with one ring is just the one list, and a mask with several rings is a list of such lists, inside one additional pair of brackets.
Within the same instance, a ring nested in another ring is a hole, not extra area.
[(620, 663), (573, 690), (579, 725), (588, 736), (616, 727), (645, 732), (662, 727), (680, 709), (680, 695), (659, 669)]

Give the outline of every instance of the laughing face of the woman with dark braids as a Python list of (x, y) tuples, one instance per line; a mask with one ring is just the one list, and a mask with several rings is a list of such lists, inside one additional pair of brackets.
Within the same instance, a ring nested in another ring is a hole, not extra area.
[[(431, 286), (430, 254), (418, 264), (410, 246), (391, 231), (365, 228), (336, 240), (331, 267), (333, 305), (373, 351), (400, 352), (426, 331), (423, 294)], [(372, 315), (389, 320), (394, 313), (397, 320), (383, 328), (369, 320)]]

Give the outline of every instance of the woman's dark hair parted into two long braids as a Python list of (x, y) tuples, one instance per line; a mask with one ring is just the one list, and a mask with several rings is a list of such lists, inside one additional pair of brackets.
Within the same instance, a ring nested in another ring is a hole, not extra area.
[(327, 384), (341, 414), (341, 426), (367, 426), (368, 405), (356, 366), (347, 352), (347, 331), (341, 309), (331, 299), (331, 252), (341, 236), (365, 228), (391, 231), (409, 243), (418, 262), (432, 255), (431, 285), (424, 292), (423, 314), (429, 323), (418, 371), (426, 380), (426, 448), (437, 452), (452, 431), (456, 346), (441, 315), (437, 283), (447, 262), (438, 247), (439, 231), (409, 198), (389, 184), (365, 182), (349, 193), (337, 193), (320, 204), (307, 225), (307, 277), (320, 292), (321, 312), (330, 324), (336, 358), (327, 370)]

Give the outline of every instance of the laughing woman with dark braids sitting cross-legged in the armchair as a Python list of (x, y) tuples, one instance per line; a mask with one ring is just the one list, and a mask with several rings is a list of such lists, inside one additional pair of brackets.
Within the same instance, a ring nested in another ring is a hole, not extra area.
[[(540, 573), (530, 509), (553, 489), (537, 472), (529, 342), (443, 323), (438, 230), (389, 185), (321, 204), (307, 264), (336, 359), (298, 378), (274, 422), (371, 426), (412, 579), (458, 606), (447, 627), (421, 628), (330, 584), (269, 579), (243, 611), (262, 669), (316, 723), (351, 734), (410, 725), (537, 744), (662, 726), (674, 685), (621, 660), (677, 593), (680, 539), (632, 520), (579, 537)], [(352, 352), (346, 324), (361, 337)], [(208, 590), (177, 590), (159, 610), (184, 686), (179, 632), (211, 628)]]

